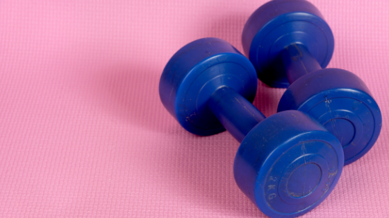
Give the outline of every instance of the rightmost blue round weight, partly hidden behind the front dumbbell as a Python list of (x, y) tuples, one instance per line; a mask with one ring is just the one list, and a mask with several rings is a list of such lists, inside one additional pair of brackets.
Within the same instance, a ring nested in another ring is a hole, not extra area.
[(309, 113), (338, 138), (345, 165), (365, 155), (382, 125), (381, 111), (365, 83), (342, 69), (322, 69), (296, 80), (283, 94), (278, 111)]

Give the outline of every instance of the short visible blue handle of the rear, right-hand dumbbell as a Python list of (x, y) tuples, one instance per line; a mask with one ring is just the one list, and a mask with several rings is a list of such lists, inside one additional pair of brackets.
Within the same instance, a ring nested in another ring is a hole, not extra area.
[(281, 53), (281, 61), (290, 84), (307, 73), (322, 69), (319, 62), (302, 44), (287, 46)]

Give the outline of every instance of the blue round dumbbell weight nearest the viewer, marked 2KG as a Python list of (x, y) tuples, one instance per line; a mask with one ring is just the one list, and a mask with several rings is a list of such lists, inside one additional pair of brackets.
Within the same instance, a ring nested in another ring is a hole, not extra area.
[(235, 156), (239, 188), (269, 217), (297, 217), (335, 188), (343, 168), (339, 141), (301, 111), (260, 122)]

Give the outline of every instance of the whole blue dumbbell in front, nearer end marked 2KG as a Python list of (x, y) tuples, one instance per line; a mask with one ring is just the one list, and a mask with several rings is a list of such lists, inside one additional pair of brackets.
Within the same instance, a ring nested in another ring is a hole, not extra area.
[(177, 51), (159, 84), (163, 105), (192, 134), (227, 129), (240, 142), (233, 173), (242, 192), (269, 217), (295, 217), (333, 190), (344, 163), (338, 139), (301, 111), (268, 118), (251, 104), (254, 66), (231, 44), (204, 38)]

